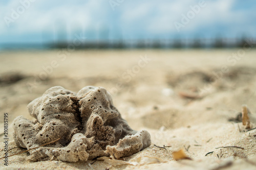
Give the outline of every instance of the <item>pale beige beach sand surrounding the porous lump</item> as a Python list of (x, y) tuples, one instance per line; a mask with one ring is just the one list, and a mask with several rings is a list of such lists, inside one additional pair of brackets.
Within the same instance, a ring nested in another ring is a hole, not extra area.
[[(1, 157), (4, 113), (10, 149), (15, 147), (12, 120), (18, 115), (32, 120), (28, 103), (56, 85), (75, 92), (87, 85), (106, 88), (128, 124), (152, 138), (151, 147), (119, 165), (110, 160), (30, 162), (23, 153), (9, 157), (8, 166), (1, 160), (1, 169), (255, 169), (256, 130), (247, 132), (241, 121), (229, 121), (246, 104), (256, 127), (256, 51), (230, 57), (239, 50), (1, 52)], [(230, 146), (243, 149), (216, 149)], [(175, 161), (172, 153), (179, 149), (191, 160)], [(9, 155), (20, 151), (25, 149)]]

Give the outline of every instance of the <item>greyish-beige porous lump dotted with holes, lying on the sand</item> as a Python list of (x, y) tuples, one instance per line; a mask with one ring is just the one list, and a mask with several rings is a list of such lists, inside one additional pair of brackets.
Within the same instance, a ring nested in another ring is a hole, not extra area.
[(48, 89), (28, 105), (31, 121), (18, 116), (13, 121), (18, 147), (32, 149), (30, 159), (86, 161), (100, 156), (121, 158), (151, 144), (150, 134), (134, 131), (114, 107), (108, 91), (86, 86), (77, 94), (60, 86)]

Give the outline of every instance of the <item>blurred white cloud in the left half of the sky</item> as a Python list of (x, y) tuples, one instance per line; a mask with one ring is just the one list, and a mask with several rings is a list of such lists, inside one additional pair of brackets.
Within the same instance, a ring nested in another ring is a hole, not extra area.
[[(11, 1), (11, 3), (2, 7), (5, 10), (1, 10), (1, 14), (5, 14), (1, 16), (11, 17), (11, 10), (16, 10), (17, 6), (20, 6), (20, 4), (14, 2)], [(56, 20), (62, 20), (68, 26), (78, 23), (82, 27), (89, 27), (95, 22), (95, 19), (97, 20), (104, 16), (103, 4), (93, 0), (74, 4), (58, 2), (57, 6), (51, 7), (51, 4), (48, 4), (49, 7), (47, 8), (45, 5), (46, 1), (35, 1), (31, 3), (30, 7), (23, 14), (20, 14), (18, 19), (10, 23), (10, 26), (15, 27), (18, 33), (24, 34), (52, 29), (55, 26)], [(42, 6), (46, 7), (41, 8)], [(10, 31), (5, 22), (1, 22), (0, 27), (2, 28), (2, 34)]]

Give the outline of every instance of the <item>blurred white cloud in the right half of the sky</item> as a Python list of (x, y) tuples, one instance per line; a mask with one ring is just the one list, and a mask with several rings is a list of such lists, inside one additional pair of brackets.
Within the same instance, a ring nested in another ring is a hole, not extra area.
[[(122, 6), (120, 21), (126, 34), (133, 34), (134, 30), (143, 31), (147, 34), (176, 34), (178, 33), (174, 22), (181, 22), (182, 14), (186, 15), (191, 10), (190, 6), (198, 5), (200, 1), (150, 1), (147, 4), (132, 2)], [(212, 25), (218, 27), (222, 24), (232, 24), (232, 11), (234, 0), (205, 1), (207, 6), (201, 8), (190, 22), (181, 30), (184, 33), (196, 32), (202, 27)], [(246, 15), (246, 14), (243, 14)], [(132, 30), (132, 31), (131, 31)]]

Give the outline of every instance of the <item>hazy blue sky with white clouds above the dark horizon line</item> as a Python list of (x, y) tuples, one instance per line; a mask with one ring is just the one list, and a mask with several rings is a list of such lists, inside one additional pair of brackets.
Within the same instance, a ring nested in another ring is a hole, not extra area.
[(0, 1), (0, 43), (256, 37), (255, 0)]

